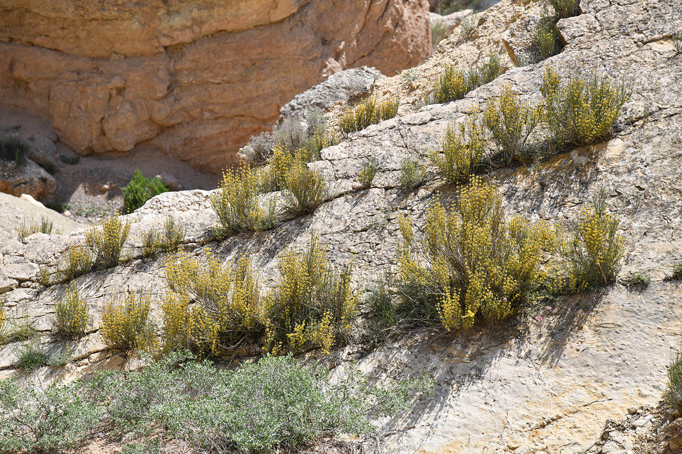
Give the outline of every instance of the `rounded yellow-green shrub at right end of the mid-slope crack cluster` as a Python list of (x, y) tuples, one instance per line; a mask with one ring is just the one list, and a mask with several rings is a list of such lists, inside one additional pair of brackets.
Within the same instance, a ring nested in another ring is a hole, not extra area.
[(322, 175), (297, 158), (286, 173), (283, 189), (284, 205), (291, 213), (312, 213), (329, 196)]

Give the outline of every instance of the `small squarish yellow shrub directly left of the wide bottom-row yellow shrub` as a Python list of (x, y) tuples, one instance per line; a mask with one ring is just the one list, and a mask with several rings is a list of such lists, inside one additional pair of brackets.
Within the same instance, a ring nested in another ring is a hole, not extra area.
[(122, 352), (154, 348), (156, 339), (149, 320), (150, 304), (148, 296), (132, 292), (121, 300), (105, 303), (100, 331), (104, 342)]

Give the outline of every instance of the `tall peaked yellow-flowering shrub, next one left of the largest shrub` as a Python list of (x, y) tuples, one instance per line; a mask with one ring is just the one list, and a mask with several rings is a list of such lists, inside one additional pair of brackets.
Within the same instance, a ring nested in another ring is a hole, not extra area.
[(357, 297), (351, 264), (329, 264), (318, 236), (307, 250), (290, 247), (278, 262), (280, 279), (265, 304), (267, 352), (281, 354), (331, 346), (349, 335)]

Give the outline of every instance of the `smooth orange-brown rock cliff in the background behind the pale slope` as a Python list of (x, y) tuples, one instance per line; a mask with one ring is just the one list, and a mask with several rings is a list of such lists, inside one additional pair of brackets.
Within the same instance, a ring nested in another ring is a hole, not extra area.
[(326, 76), (411, 67), (428, 0), (1, 0), (0, 103), (80, 154), (147, 141), (220, 170)]

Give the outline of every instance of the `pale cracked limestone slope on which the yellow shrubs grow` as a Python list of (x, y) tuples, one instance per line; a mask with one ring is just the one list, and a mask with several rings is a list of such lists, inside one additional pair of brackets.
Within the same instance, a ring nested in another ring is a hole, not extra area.
[[(496, 7), (512, 7), (501, 2)], [(286, 245), (305, 244), (318, 232), (335, 260), (355, 260), (353, 276), (362, 291), (395, 269), (397, 218), (420, 226), (432, 198), (451, 198), (451, 188), (429, 170), (429, 181), (415, 192), (398, 187), (400, 162), (407, 156), (428, 162), (448, 123), (462, 121), (504, 87), (537, 103), (547, 65), (564, 77), (601, 71), (632, 80), (634, 94), (625, 104), (617, 131), (606, 142), (574, 149), (533, 168), (499, 170), (505, 207), (554, 224), (571, 224), (584, 203), (604, 188), (608, 209), (621, 218), (626, 255), (621, 277), (646, 271), (653, 278), (642, 292), (622, 285), (603, 292), (566, 297), (533, 318), (512, 318), (496, 326), (474, 327), (445, 335), (412, 335), (366, 352), (344, 348), (333, 361), (357, 358), (377, 376), (417, 372), (436, 380), (436, 395), (412, 412), (383, 421), (389, 443), (405, 452), (425, 453), (583, 453), (602, 449), (608, 419), (628, 408), (655, 406), (665, 386), (665, 366), (681, 342), (682, 286), (664, 280), (682, 259), (682, 55), (672, 33), (682, 30), (681, 0), (584, 2), (582, 14), (558, 24), (566, 46), (541, 63), (512, 68), (464, 100), (424, 106), (419, 111), (372, 125), (322, 151), (311, 164), (331, 185), (333, 197), (303, 217), (282, 218), (275, 230), (238, 234), (211, 241), (216, 220), (209, 192), (162, 194), (130, 215), (125, 254), (133, 257), (113, 269), (76, 279), (95, 314), (93, 331), (72, 346), (73, 365), (42, 369), (40, 376), (81, 376), (102, 367), (130, 367), (113, 357), (97, 333), (102, 304), (125, 290), (143, 290), (158, 302), (164, 293), (162, 259), (142, 260), (141, 234), (169, 213), (186, 222), (185, 247), (204, 254), (208, 247), (233, 260), (248, 252), (263, 287), (276, 279), (276, 260)], [(456, 55), (457, 34), (441, 46)], [(468, 44), (462, 44), (466, 49)], [(484, 53), (484, 50), (480, 50)], [(396, 80), (397, 78), (394, 78)], [(368, 157), (379, 162), (372, 187), (361, 190), (357, 172)], [(437, 194), (436, 192), (439, 192)], [(437, 194), (437, 195), (436, 195)], [(24, 314), (41, 331), (51, 327), (53, 300), (65, 286), (44, 288), (41, 267), (55, 271), (68, 245), (83, 243), (83, 232), (48, 237), (35, 234), (26, 244), (11, 243), (0, 252), (0, 291), (8, 307)], [(205, 245), (203, 245), (205, 243)], [(539, 315), (542, 320), (536, 320)], [(0, 373), (12, 368), (13, 346), (0, 350)], [(59, 348), (53, 346), (52, 348)], [(646, 425), (643, 420), (642, 426)], [(626, 453), (632, 440), (614, 438), (604, 449)], [(630, 444), (627, 444), (629, 440)]]

